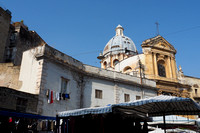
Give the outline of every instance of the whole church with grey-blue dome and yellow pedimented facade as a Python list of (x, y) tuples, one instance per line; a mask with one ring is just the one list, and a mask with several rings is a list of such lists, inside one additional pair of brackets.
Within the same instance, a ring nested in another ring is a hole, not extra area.
[(177, 69), (177, 51), (165, 38), (158, 35), (143, 41), (143, 53), (138, 54), (134, 42), (124, 35), (124, 28), (118, 25), (115, 31), (97, 57), (101, 68), (154, 80), (158, 95), (191, 97), (199, 102), (200, 79), (184, 76), (181, 67)]

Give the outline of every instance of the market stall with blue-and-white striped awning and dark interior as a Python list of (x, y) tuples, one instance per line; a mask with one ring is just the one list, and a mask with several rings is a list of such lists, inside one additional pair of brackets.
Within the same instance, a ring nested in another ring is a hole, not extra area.
[(165, 125), (166, 115), (199, 113), (200, 106), (190, 98), (160, 95), (106, 107), (59, 112), (56, 131), (58, 133), (148, 132), (147, 121), (150, 116), (163, 116)]

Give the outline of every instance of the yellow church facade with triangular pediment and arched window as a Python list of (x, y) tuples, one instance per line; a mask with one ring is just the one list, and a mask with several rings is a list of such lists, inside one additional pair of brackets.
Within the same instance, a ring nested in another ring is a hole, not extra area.
[(156, 81), (158, 94), (190, 97), (190, 85), (178, 79), (175, 48), (160, 35), (145, 40), (141, 46), (146, 78)]

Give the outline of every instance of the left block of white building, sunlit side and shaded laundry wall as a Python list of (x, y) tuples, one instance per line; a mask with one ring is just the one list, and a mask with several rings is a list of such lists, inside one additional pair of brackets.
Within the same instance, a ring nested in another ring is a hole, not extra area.
[[(81, 62), (48, 45), (30, 49), (23, 54), (20, 72), (23, 85), (20, 90), (39, 95), (37, 111), (40, 115), (55, 116), (59, 111), (81, 108), (82, 67)], [(70, 99), (56, 100), (56, 92), (61, 92), (62, 77), (68, 80)], [(53, 91), (53, 103), (48, 103), (48, 89)]]

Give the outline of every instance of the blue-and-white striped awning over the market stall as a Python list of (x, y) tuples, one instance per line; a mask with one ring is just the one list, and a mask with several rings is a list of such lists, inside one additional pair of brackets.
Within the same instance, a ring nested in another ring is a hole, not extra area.
[(190, 98), (174, 96), (156, 96), (106, 107), (84, 108), (59, 112), (59, 117), (86, 114), (106, 114), (120, 112), (127, 115), (162, 116), (162, 115), (198, 115), (200, 106)]

